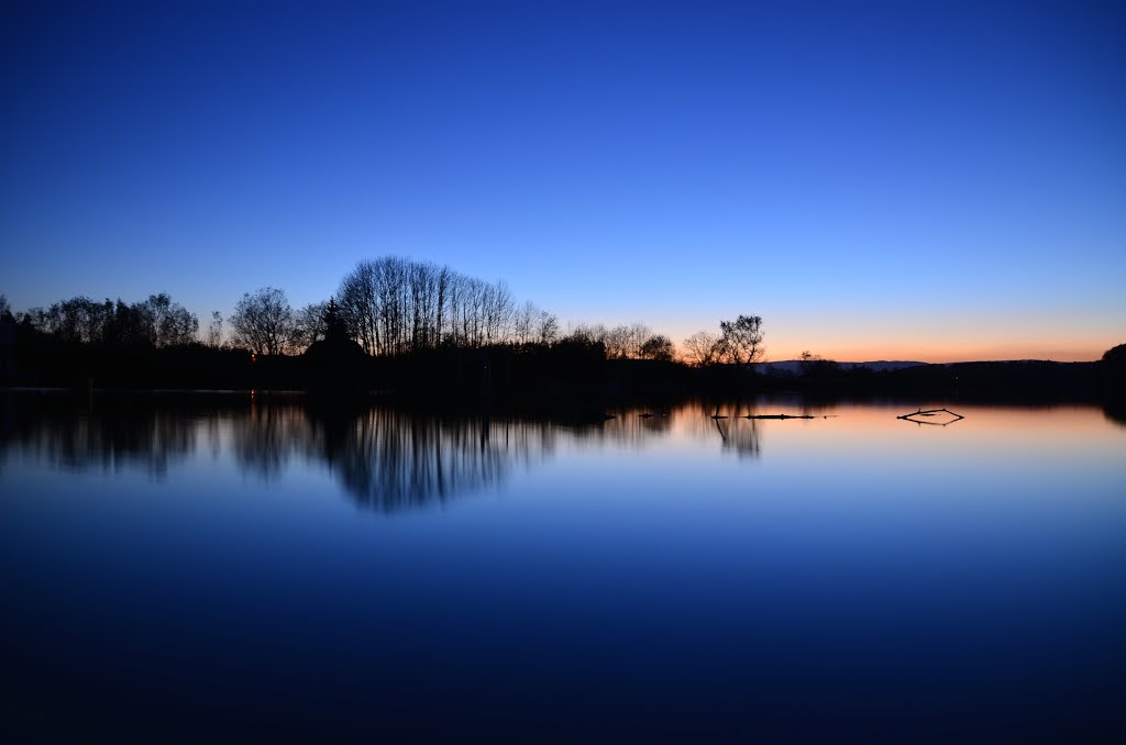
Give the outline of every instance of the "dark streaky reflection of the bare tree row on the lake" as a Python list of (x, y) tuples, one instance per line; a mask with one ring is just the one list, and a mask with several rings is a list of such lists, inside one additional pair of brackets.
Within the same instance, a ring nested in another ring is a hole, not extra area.
[(650, 416), (615, 410), (605, 423), (448, 416), (391, 407), (318, 406), (301, 397), (6, 395), (0, 401), (0, 468), (19, 452), (54, 468), (143, 469), (158, 481), (178, 463), (231, 457), (244, 474), (279, 481), (300, 465), (327, 467), (361, 506), (396, 512), (440, 504), (501, 483), (513, 468), (573, 447), (643, 448), (679, 432), (718, 440), (740, 457), (760, 455), (759, 423), (714, 420), (714, 404)]

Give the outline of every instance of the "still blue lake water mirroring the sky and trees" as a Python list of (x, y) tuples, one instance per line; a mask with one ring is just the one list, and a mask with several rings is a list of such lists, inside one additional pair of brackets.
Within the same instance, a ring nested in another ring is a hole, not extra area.
[(1117, 739), (1126, 427), (917, 403), (578, 428), (9, 395), (2, 726)]

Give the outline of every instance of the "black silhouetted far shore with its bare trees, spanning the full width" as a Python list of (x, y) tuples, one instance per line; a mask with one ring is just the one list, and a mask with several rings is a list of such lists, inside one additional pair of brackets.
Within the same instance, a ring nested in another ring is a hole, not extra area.
[(1126, 345), (1091, 363), (919, 365), (874, 370), (805, 352), (762, 365), (763, 323), (739, 315), (680, 344), (644, 323), (558, 317), (508, 286), (449, 267), (360, 261), (337, 293), (301, 308), (263, 287), (205, 326), (167, 294), (126, 303), (74, 297), (11, 308), (0, 296), (0, 385), (377, 392), (428, 400), (799, 391), (1081, 400), (1118, 395)]

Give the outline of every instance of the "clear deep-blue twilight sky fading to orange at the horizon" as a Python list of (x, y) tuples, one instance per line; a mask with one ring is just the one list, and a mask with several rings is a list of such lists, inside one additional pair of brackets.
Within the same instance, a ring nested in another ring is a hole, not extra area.
[(1126, 342), (1120, 2), (0, 10), (0, 293), (206, 326), (363, 259), (767, 359)]

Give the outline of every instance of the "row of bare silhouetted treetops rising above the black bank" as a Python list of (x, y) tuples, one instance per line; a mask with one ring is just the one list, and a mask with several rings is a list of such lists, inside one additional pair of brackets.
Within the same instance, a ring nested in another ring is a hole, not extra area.
[(0, 316), (64, 342), (157, 349), (204, 344), (272, 357), (301, 354), (325, 339), (330, 323), (340, 324), (372, 357), (570, 343), (599, 347), (608, 359), (679, 359), (707, 367), (754, 362), (763, 352), (759, 316), (723, 321), (718, 333), (700, 331), (681, 350), (640, 322), (580, 323), (564, 332), (555, 314), (531, 302), (517, 304), (503, 281), (400, 257), (358, 262), (331, 298), (301, 308), (276, 287), (244, 293), (229, 318), (214, 312), (203, 332), (197, 316), (166, 293), (132, 304), (80, 296), (19, 314), (0, 296)]

